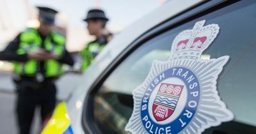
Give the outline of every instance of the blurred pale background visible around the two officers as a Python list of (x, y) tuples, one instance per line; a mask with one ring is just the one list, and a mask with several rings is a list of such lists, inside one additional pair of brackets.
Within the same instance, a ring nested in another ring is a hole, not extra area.
[[(115, 35), (125, 27), (159, 8), (165, 0), (1, 0), (0, 1), (0, 51), (26, 27), (38, 27), (36, 6), (48, 6), (58, 10), (56, 29), (67, 38), (67, 50), (76, 58), (93, 37), (88, 34), (83, 19), (88, 10), (100, 8), (105, 11), (109, 22), (107, 29)], [(0, 61), (0, 131), (17, 133), (15, 124), (15, 86), (12, 83), (13, 64)], [(81, 74), (67, 73), (57, 82), (58, 100), (67, 100), (76, 89)], [(33, 133), (38, 131), (39, 115), (35, 114)]]

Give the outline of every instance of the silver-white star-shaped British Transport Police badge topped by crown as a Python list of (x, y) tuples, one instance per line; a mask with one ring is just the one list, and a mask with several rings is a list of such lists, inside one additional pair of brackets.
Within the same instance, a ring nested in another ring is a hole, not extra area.
[(179, 33), (168, 61), (154, 61), (143, 84), (132, 91), (134, 107), (126, 131), (202, 133), (234, 118), (216, 90), (229, 57), (200, 58), (220, 27), (204, 24), (205, 20), (196, 22), (193, 29)]

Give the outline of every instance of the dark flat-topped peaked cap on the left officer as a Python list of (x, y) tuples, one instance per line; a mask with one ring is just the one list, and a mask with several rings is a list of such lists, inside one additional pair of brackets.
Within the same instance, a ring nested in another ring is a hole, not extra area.
[(43, 6), (37, 6), (39, 10), (39, 19), (45, 24), (54, 24), (55, 15), (58, 11), (53, 10), (52, 8), (47, 8)]

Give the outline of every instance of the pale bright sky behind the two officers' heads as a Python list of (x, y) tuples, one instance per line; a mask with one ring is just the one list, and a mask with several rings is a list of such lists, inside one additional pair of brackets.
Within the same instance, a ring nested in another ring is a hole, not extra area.
[(1, 0), (0, 21), (8, 30), (1, 29), (0, 26), (0, 39), (14, 38), (28, 24), (28, 20), (35, 19), (35, 6), (49, 6), (60, 11), (61, 17), (67, 20), (64, 21), (67, 26), (67, 49), (77, 51), (86, 42), (93, 40), (83, 22), (88, 10), (95, 7), (104, 10), (109, 18), (108, 29), (118, 33), (143, 15), (159, 8), (163, 2), (164, 0)]

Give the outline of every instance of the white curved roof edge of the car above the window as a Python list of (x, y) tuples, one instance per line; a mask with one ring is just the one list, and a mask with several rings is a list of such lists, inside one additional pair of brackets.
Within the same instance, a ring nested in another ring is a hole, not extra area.
[[(91, 66), (85, 71), (83, 78), (81, 78), (81, 82), (79, 82), (79, 86), (72, 94), (70, 100), (68, 100), (68, 113), (70, 113), (71, 118), (75, 118), (72, 120), (81, 120), (81, 117), (77, 117), (77, 115), (81, 115), (81, 113), (79, 114), (77, 111), (81, 112), (81, 110), (77, 109), (83, 107), (76, 107), (77, 101), (81, 101), (83, 104), (86, 93), (92, 86), (93, 82), (95, 82), (102, 71), (104, 71), (109, 64), (132, 43), (132, 41), (136, 40), (136, 38), (141, 36), (143, 33), (152, 29), (152, 27), (161, 24), (161, 22), (164, 22), (165, 20), (168, 20), (179, 13), (182, 13), (182, 11), (188, 10), (196, 4), (202, 3), (202, 1), (204, 0), (170, 0), (163, 6), (157, 8), (151, 13), (148, 13), (148, 15), (145, 15), (125, 28), (121, 33), (116, 34), (113, 40), (108, 43), (104, 50), (102, 50), (102, 52), (100, 52), (100, 54), (95, 58)], [(74, 122), (81, 123), (81, 121)], [(76, 124), (73, 126), (76, 126)]]

